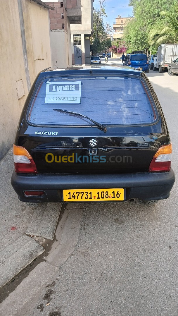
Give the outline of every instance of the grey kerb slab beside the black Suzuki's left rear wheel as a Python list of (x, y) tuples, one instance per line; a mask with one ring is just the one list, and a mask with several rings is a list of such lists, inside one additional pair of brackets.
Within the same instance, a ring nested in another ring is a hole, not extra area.
[(28, 224), (26, 234), (52, 240), (62, 203), (48, 203), (45, 209), (36, 208)]

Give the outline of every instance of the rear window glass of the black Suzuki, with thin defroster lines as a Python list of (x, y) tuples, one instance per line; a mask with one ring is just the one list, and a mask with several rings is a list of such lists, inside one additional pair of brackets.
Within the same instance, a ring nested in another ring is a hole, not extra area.
[(54, 77), (41, 82), (27, 112), (35, 125), (91, 125), (78, 112), (105, 125), (148, 124), (156, 112), (141, 79), (135, 77)]

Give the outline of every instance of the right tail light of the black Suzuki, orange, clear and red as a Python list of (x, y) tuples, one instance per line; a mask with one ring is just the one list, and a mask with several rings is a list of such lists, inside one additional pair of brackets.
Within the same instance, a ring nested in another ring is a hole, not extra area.
[(149, 171), (170, 171), (172, 144), (161, 146), (151, 160)]

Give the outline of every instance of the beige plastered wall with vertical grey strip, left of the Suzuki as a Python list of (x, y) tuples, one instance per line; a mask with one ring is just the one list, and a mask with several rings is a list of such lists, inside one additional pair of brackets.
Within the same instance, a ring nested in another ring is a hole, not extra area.
[(44, 7), (30, 0), (0, 1), (0, 21), (1, 159), (14, 142), (28, 89), (38, 72), (51, 66), (51, 54)]

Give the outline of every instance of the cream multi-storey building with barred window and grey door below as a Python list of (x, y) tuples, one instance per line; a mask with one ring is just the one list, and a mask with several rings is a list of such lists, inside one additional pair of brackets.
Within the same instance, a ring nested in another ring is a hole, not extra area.
[(93, 32), (93, 2), (81, 0), (81, 24), (71, 24), (72, 64), (90, 64), (90, 36)]

